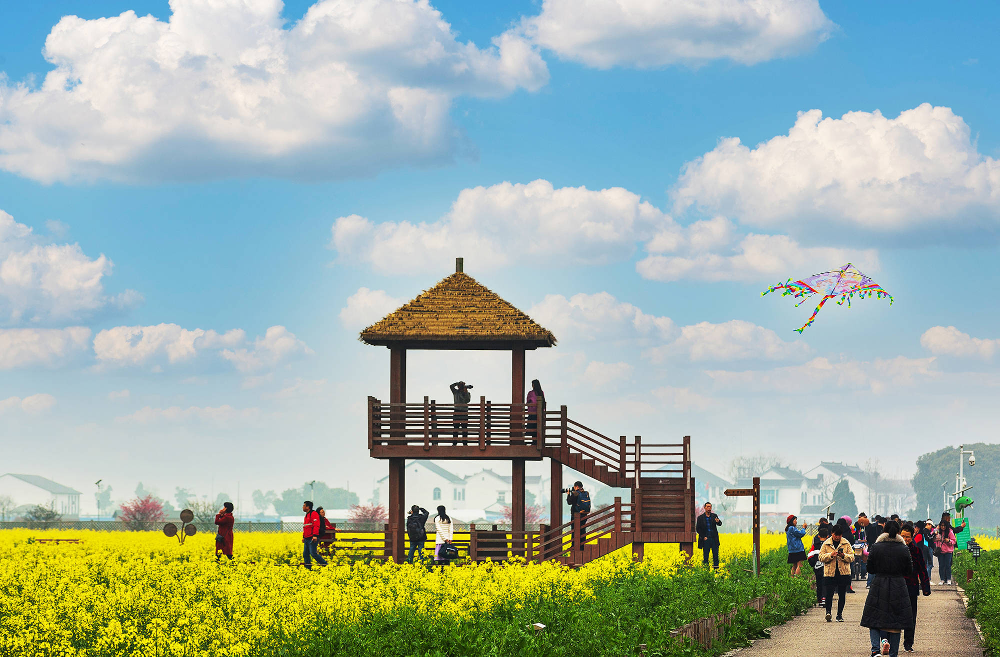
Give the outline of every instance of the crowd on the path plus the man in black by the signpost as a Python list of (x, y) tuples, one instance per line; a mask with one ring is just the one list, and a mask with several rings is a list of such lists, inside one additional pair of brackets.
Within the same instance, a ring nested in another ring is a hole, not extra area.
[[(705, 503), (704, 512), (695, 521), (702, 563), (719, 567), (719, 516), (712, 505)], [(832, 517), (832, 516), (831, 516)], [(931, 571), (937, 559), (937, 585), (954, 584), (951, 564), (957, 544), (956, 533), (966, 527), (963, 518), (956, 527), (951, 514), (941, 514), (935, 523), (931, 519), (908, 521), (897, 514), (888, 518), (869, 518), (859, 513), (857, 519), (848, 515), (831, 522), (822, 517), (807, 550), (803, 538), (808, 523), (799, 524), (798, 517), (785, 520), (788, 564), (793, 576), (808, 563), (816, 577), (816, 606), (826, 610), (826, 622), (844, 622), (846, 596), (854, 593), (853, 582), (865, 582), (865, 600), (860, 624), (869, 629), (872, 655), (895, 657), (902, 643), (904, 652), (914, 648), (917, 601), (921, 594), (931, 594)], [(833, 601), (837, 600), (836, 614)]]

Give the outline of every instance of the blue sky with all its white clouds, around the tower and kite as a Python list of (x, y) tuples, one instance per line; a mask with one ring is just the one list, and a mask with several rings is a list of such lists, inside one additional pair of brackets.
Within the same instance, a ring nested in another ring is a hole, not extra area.
[[(388, 358), (355, 335), (455, 256), (556, 332), (550, 403), (709, 469), (988, 439), (998, 10), (773, 5), (5, 8), (0, 469), (367, 496)], [(842, 258), (896, 303), (799, 335), (760, 298)], [(415, 398), (503, 398), (501, 361), (420, 357)]]

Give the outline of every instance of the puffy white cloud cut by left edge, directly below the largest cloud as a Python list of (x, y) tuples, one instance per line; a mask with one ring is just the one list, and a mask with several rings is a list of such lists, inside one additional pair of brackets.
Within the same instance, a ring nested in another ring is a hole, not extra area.
[(74, 322), (141, 301), (133, 290), (104, 294), (102, 280), (111, 269), (103, 254), (92, 260), (79, 245), (46, 244), (0, 210), (0, 324)]

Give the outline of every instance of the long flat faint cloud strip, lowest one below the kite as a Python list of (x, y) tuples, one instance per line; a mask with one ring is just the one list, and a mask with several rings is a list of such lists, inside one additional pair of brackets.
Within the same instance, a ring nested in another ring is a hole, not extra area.
[(934, 357), (876, 358), (873, 361), (831, 361), (816, 357), (808, 362), (773, 369), (744, 371), (706, 370), (718, 387), (746, 392), (810, 393), (826, 388), (871, 389), (881, 393), (934, 378)]

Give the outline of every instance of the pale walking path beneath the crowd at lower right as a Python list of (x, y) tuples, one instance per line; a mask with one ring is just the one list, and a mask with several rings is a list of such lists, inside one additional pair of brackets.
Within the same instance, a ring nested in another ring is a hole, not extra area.
[[(957, 572), (954, 575), (956, 578), (959, 576)], [(931, 581), (938, 581), (937, 568)], [(855, 581), (854, 590), (857, 593), (847, 594), (843, 623), (827, 623), (826, 610), (813, 607), (787, 624), (773, 628), (770, 639), (758, 639), (752, 646), (731, 654), (734, 657), (802, 655), (826, 652), (829, 646), (837, 646), (835, 652), (840, 654), (868, 655), (871, 646), (868, 628), (858, 625), (868, 589), (864, 581)], [(913, 644), (916, 652), (912, 654), (933, 654), (934, 657), (974, 657), (982, 654), (976, 626), (965, 617), (965, 608), (955, 586), (932, 585), (930, 596), (920, 596), (918, 605), (917, 633)], [(836, 616), (836, 599), (833, 611)], [(903, 652), (902, 641), (899, 654), (911, 654)]]

